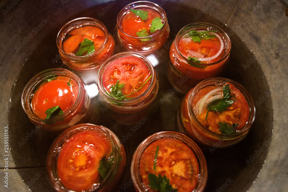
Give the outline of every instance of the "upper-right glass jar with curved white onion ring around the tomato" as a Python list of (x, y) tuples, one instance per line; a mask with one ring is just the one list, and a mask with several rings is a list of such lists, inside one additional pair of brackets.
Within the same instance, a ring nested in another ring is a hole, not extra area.
[[(190, 34), (194, 30), (211, 31), (206, 34), (212, 39), (199, 39), (200, 43), (192, 40)], [(170, 83), (184, 94), (200, 81), (218, 76), (230, 61), (230, 50), (230, 38), (218, 26), (196, 22), (183, 27), (170, 47)]]

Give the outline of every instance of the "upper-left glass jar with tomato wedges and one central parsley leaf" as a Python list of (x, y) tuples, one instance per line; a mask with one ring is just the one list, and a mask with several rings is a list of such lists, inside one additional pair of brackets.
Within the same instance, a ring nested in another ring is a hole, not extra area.
[(57, 35), (62, 62), (84, 82), (96, 80), (100, 66), (114, 53), (115, 42), (104, 24), (94, 18), (77, 18)]

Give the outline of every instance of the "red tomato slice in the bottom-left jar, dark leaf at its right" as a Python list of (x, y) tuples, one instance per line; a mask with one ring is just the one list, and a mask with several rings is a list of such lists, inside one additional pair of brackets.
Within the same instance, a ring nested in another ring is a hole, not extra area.
[(58, 176), (62, 184), (73, 191), (86, 191), (100, 180), (100, 160), (111, 153), (105, 137), (95, 132), (79, 132), (59, 153)]

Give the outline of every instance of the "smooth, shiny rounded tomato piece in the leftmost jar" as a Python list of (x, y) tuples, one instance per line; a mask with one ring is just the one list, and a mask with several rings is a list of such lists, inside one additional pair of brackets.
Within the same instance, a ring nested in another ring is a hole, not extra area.
[(44, 82), (33, 93), (31, 105), (35, 115), (41, 119), (46, 118), (46, 110), (58, 106), (66, 112), (74, 104), (78, 96), (78, 86), (74, 80), (65, 76), (58, 76), (49, 82)]

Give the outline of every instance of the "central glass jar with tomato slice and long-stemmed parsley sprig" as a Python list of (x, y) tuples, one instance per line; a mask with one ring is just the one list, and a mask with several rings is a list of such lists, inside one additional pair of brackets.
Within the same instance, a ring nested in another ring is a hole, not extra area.
[(101, 103), (123, 123), (147, 117), (158, 106), (157, 75), (149, 60), (138, 53), (117, 53), (107, 59), (98, 73), (98, 90)]

